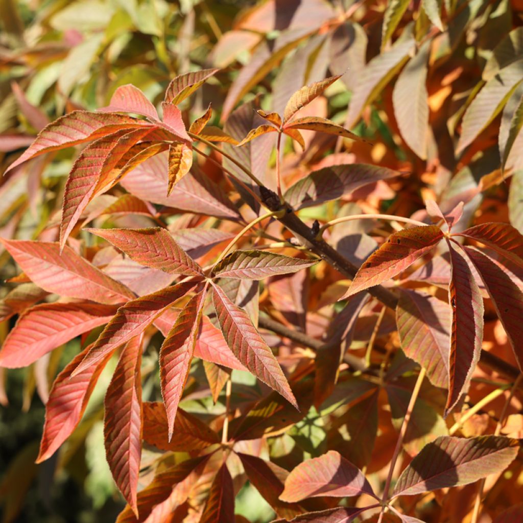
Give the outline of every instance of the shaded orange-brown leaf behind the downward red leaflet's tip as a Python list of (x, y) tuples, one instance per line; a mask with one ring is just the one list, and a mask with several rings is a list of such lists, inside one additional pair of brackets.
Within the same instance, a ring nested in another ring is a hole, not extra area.
[(162, 402), (143, 404), (143, 439), (160, 450), (200, 450), (219, 443), (218, 434), (196, 416), (178, 407), (173, 438), (169, 441), (167, 415)]

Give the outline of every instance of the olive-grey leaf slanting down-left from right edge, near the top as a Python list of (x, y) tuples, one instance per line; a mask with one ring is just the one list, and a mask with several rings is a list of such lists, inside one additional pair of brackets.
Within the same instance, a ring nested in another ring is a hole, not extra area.
[(521, 82), (523, 60), (514, 62), (490, 79), (472, 100), (463, 115), (461, 135), (456, 152), (462, 152), (503, 109)]

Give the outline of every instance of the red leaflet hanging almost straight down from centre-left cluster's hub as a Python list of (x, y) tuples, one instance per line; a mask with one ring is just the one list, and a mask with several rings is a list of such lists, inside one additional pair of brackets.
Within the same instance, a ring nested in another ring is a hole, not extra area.
[(167, 412), (169, 441), (173, 437), (176, 410), (189, 376), (205, 294), (200, 292), (189, 300), (160, 349), (160, 382)]

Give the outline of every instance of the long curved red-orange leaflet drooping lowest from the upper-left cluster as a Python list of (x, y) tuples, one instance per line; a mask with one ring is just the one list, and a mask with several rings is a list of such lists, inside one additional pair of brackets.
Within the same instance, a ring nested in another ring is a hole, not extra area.
[[(122, 157), (147, 134), (154, 126), (127, 130), (100, 138), (89, 144), (78, 156), (71, 168), (65, 184), (60, 223), (60, 246), (63, 248), (67, 237), (74, 229), (87, 204), (97, 195), (101, 180), (111, 177), (111, 171)], [(107, 181), (107, 180), (106, 180)], [(109, 188), (110, 184), (107, 184)]]

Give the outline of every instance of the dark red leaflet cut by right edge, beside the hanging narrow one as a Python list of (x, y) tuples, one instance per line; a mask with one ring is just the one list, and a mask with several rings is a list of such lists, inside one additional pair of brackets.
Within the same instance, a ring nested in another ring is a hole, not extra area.
[(502, 267), (484, 254), (469, 247), (465, 252), (479, 272), (507, 333), (520, 369), (523, 369), (523, 293)]

